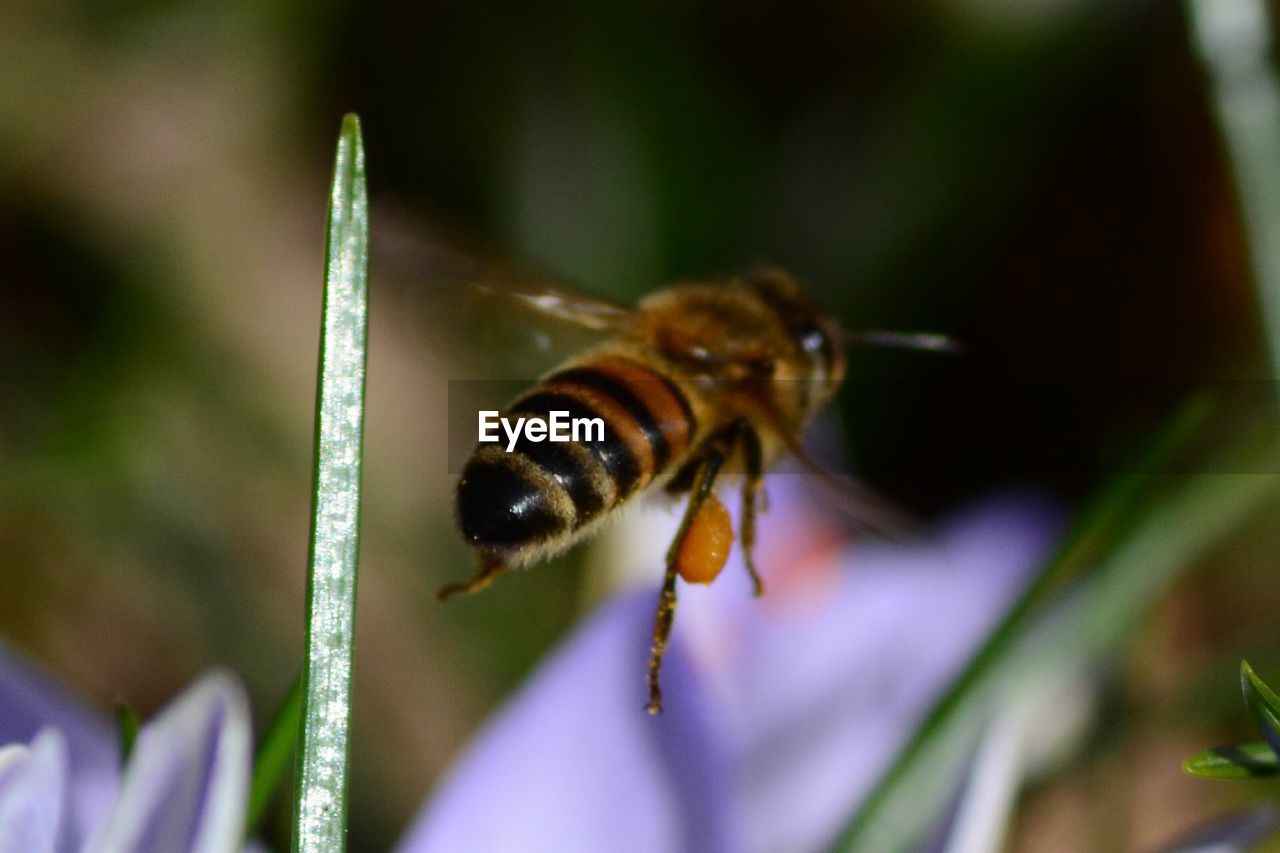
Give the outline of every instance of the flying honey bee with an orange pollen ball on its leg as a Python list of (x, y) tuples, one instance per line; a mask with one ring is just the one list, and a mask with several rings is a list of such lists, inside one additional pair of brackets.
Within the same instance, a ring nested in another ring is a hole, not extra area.
[[(846, 337), (777, 269), (672, 284), (635, 307), (554, 289), (520, 298), (607, 337), (539, 379), (504, 415), (599, 419), (603, 438), (557, 443), (526, 434), (509, 451), (479, 444), (457, 488), (457, 523), (479, 570), (438, 597), (477, 592), (509, 569), (559, 553), (643, 494), (687, 496), (654, 615), (648, 711), (659, 713), (676, 579), (709, 581), (732, 543), (713, 488), (724, 475), (740, 476), (737, 540), (759, 596), (753, 551), (764, 471), (788, 451), (803, 457), (805, 426), (845, 377)], [(933, 336), (869, 338), (937, 348)]]

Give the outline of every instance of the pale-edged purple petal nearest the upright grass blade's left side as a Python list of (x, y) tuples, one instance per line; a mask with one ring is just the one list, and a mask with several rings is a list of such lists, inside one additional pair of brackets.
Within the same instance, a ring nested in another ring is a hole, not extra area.
[(248, 701), (229, 675), (206, 675), (138, 733), (108, 850), (238, 849), (251, 760)]

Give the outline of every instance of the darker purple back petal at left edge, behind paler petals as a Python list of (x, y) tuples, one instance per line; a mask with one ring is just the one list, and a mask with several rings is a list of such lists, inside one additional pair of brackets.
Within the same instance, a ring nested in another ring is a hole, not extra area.
[(119, 739), (105, 716), (0, 644), (0, 744), (61, 734), (70, 761), (69, 840), (78, 847), (106, 817), (120, 779)]

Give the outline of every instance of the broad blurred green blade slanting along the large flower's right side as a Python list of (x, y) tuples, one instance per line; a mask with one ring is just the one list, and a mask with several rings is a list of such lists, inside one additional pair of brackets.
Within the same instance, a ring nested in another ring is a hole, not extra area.
[[(1167, 452), (1161, 450), (1155, 459)], [(1275, 450), (1235, 462), (1224, 470), (1274, 470)], [(1139, 465), (1137, 470), (1158, 467)], [(1156, 485), (1164, 487), (1160, 494), (1152, 494)], [(1266, 474), (1204, 474), (1176, 483), (1152, 474), (1120, 476), (920, 722), (835, 848), (914, 849), (951, 793), (991, 703), (1000, 701), (1001, 688), (1014, 674), (1066, 672), (1111, 653), (1155, 597), (1248, 512), (1274, 497), (1277, 487), (1277, 478)], [(1148, 502), (1148, 511), (1135, 510)], [(1096, 567), (1064, 607), (1050, 612), (1044, 605), (1052, 601), (1046, 601), (1046, 592), (1082, 561)]]

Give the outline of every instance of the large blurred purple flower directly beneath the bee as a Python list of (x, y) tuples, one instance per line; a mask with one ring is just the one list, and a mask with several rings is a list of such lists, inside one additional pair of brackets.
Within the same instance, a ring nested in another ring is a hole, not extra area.
[(732, 564), (714, 589), (682, 587), (663, 716), (643, 711), (654, 594), (628, 594), (485, 726), (399, 849), (829, 844), (1062, 516), (1042, 498), (1005, 496), (923, 543), (852, 546), (797, 478), (778, 479), (760, 537), (768, 594), (751, 599)]

